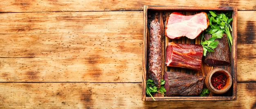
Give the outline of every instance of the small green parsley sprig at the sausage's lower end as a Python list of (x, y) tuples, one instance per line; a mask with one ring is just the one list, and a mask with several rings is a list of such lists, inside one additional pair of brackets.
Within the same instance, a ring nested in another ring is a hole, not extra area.
[(164, 85), (165, 80), (161, 79), (161, 87), (159, 88), (159, 91), (157, 91), (158, 88), (155, 86), (153, 80), (148, 79), (146, 82), (147, 82), (146, 94), (151, 96), (151, 98), (153, 98), (153, 100), (155, 100), (155, 98), (152, 96), (152, 94), (154, 94), (154, 93), (161, 93), (161, 94), (165, 95), (164, 92), (166, 92), (166, 90), (165, 90), (164, 86), (162, 86), (162, 85)]

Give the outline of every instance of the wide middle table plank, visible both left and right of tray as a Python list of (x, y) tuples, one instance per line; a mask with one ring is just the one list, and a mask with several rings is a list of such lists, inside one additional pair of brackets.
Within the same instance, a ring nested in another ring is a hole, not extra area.
[[(1, 82), (141, 82), (142, 11), (0, 15)], [(255, 15), (238, 11), (238, 81), (256, 81)]]

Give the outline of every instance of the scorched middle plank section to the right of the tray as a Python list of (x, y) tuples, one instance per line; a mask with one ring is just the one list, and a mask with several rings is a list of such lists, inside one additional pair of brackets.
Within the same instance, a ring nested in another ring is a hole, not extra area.
[(256, 11), (238, 11), (237, 76), (256, 81)]

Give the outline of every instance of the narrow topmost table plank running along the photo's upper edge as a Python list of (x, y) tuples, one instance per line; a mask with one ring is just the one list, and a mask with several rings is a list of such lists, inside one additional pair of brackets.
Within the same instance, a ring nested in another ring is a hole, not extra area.
[(255, 0), (0, 0), (0, 12), (46, 11), (141, 11), (144, 5), (159, 6), (236, 6), (256, 10)]

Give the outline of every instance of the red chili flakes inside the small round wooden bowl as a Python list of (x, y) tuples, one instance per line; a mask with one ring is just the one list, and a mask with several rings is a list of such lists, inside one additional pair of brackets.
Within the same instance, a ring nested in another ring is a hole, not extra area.
[(222, 89), (226, 85), (226, 75), (224, 73), (214, 73), (211, 77), (211, 85), (215, 89)]

